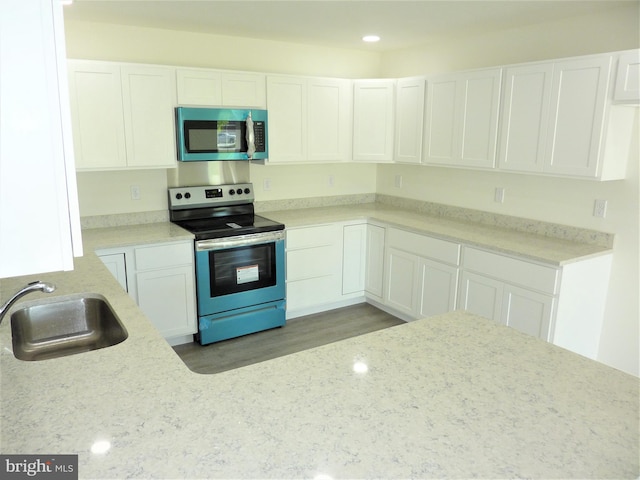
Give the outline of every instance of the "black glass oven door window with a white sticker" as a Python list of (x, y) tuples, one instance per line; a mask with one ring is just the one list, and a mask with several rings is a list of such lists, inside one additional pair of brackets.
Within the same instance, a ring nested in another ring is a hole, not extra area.
[(209, 277), (212, 298), (275, 285), (275, 243), (211, 250)]

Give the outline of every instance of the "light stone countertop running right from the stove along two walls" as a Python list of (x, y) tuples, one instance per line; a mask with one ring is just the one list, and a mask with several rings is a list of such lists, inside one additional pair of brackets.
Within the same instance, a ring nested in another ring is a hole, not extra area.
[[(260, 211), (258, 214), (284, 223), (287, 228), (358, 219), (378, 221), (445, 240), (556, 266), (612, 251), (609, 247), (583, 241), (526, 233), (444, 216), (432, 216), (383, 203)], [(555, 227), (562, 229), (562, 226)], [(568, 229), (569, 232), (574, 230), (576, 229)], [(564, 232), (559, 234), (567, 236)]]

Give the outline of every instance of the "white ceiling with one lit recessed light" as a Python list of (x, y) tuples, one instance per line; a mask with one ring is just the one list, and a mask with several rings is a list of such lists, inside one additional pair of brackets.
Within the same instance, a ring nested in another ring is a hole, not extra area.
[[(75, 0), (67, 21), (383, 52), (638, 4), (639, 0)], [(377, 34), (377, 44), (363, 35)]]

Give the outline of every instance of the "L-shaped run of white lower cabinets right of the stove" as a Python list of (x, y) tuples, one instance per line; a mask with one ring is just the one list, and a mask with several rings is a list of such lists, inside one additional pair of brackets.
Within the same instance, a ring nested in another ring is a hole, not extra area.
[(287, 229), (287, 318), (363, 301), (468, 310), (595, 359), (611, 254), (551, 265), (363, 221)]

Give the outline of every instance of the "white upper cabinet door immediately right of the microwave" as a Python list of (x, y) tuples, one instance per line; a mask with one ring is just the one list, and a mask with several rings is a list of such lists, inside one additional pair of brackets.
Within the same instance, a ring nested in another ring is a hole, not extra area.
[(307, 86), (297, 77), (267, 77), (269, 162), (291, 163), (307, 158)]

